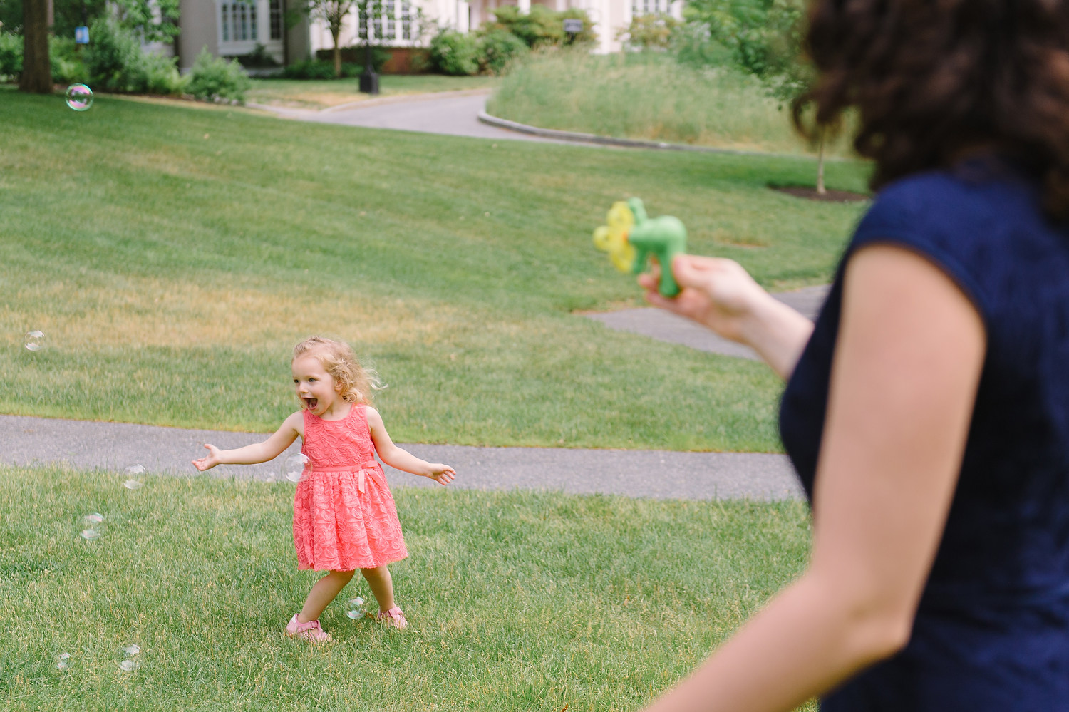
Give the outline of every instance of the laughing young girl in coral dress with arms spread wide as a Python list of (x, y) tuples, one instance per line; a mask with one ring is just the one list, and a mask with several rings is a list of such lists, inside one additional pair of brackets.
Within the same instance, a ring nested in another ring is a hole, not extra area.
[(329, 641), (320, 614), (360, 570), (378, 602), (378, 620), (403, 629), (408, 623), (393, 601), (391, 561), (408, 556), (383, 462), (448, 484), (456, 473), (397, 447), (382, 416), (369, 405), (374, 372), (363, 369), (348, 344), (312, 337), (293, 350), (293, 384), (301, 409), (263, 443), (236, 450), (205, 445), (193, 460), (203, 471), (219, 464), (251, 465), (283, 452), (299, 435), (308, 458), (293, 499), (293, 542), (300, 569), (329, 571), (312, 586), (285, 633), (312, 643)]

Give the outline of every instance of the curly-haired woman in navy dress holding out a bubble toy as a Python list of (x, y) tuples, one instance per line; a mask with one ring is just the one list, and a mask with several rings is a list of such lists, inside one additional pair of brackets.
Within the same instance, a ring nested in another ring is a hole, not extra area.
[(808, 42), (879, 190), (816, 325), (727, 260), (641, 283), (788, 380), (812, 555), (650, 709), (1069, 710), (1069, 0), (817, 0)]

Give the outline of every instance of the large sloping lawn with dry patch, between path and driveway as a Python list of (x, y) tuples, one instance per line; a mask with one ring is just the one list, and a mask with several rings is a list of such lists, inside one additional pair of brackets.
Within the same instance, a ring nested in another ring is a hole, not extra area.
[[(573, 313), (636, 304), (590, 234), (641, 196), (764, 285), (827, 280), (863, 206), (805, 157), (305, 124), (0, 90), (0, 412), (274, 430), (289, 353), (350, 340), (399, 442), (776, 451), (763, 366)], [(866, 167), (828, 166), (862, 189)], [(22, 347), (29, 329), (47, 346)]]

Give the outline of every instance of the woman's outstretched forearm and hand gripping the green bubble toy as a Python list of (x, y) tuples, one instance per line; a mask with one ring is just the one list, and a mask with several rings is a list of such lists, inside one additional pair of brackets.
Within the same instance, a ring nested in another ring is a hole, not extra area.
[(647, 300), (750, 346), (785, 381), (812, 334), (812, 322), (769, 295), (733, 260), (681, 254), (671, 264), (682, 288), (668, 299), (657, 293), (661, 273), (638, 278)]

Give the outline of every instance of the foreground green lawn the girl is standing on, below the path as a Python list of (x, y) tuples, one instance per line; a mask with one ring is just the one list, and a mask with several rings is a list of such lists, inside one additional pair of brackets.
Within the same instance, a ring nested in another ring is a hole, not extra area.
[(123, 479), (0, 467), (2, 709), (637, 709), (797, 575), (809, 541), (797, 502), (401, 489), (412, 628), (346, 618), (344, 599), (371, 598), (354, 579), (315, 648), (281, 633), (315, 578), (296, 571), (292, 484)]

